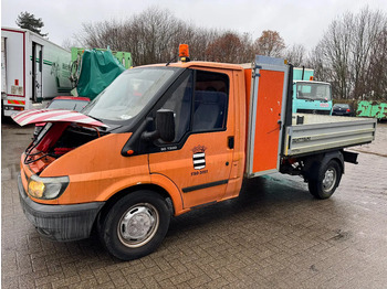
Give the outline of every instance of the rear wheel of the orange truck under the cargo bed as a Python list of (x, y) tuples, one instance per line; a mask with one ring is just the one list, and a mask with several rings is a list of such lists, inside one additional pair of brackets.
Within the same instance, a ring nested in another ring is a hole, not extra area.
[(312, 195), (324, 200), (331, 197), (342, 180), (342, 168), (337, 161), (331, 160), (325, 165), (317, 167), (315, 179), (308, 180)]

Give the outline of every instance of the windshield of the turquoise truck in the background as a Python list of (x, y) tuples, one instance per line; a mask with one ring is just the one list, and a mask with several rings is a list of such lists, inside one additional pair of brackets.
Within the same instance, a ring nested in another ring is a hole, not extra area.
[(323, 83), (296, 83), (299, 99), (332, 100), (331, 85)]

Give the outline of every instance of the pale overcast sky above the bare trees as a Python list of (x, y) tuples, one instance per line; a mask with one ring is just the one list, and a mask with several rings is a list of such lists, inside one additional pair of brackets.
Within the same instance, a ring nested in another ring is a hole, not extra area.
[(73, 42), (82, 23), (125, 20), (158, 7), (199, 28), (247, 32), (253, 40), (273, 30), (287, 46), (311, 50), (333, 20), (367, 6), (387, 13), (386, 0), (1, 0), (1, 26), (17, 28), (18, 14), (28, 11), (42, 19), (42, 33), (49, 33), (50, 41), (63, 45)]

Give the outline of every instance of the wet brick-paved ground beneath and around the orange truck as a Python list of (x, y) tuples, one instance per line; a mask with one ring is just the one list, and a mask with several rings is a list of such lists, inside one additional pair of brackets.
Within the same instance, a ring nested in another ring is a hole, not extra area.
[(331, 199), (299, 176), (255, 178), (238, 199), (174, 217), (160, 248), (134, 261), (95, 236), (46, 240), (24, 217), (17, 174), (32, 131), (1, 125), (2, 288), (387, 288), (387, 124), (352, 148), (359, 163)]

